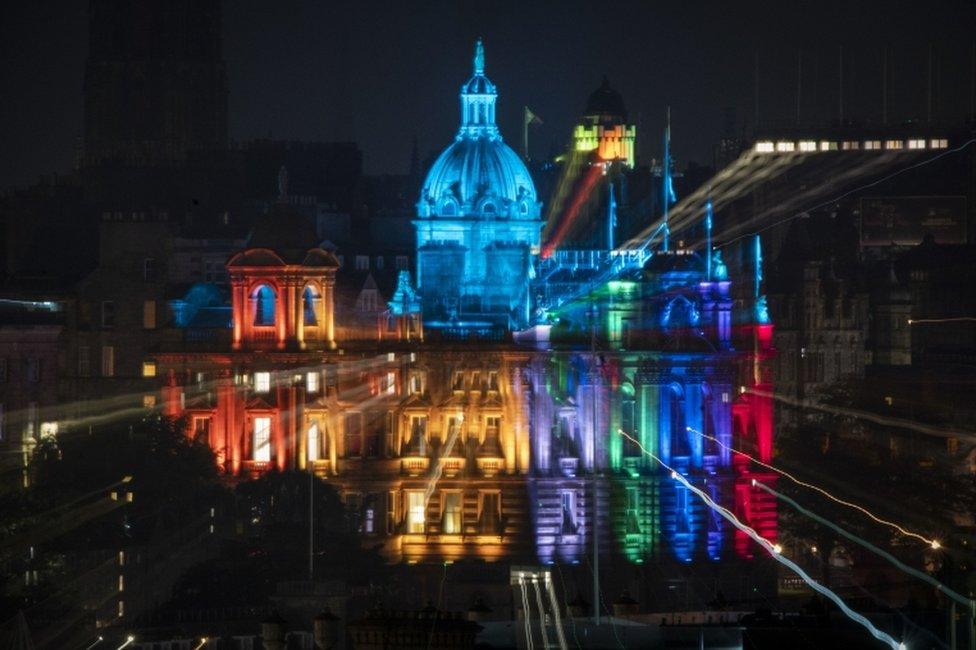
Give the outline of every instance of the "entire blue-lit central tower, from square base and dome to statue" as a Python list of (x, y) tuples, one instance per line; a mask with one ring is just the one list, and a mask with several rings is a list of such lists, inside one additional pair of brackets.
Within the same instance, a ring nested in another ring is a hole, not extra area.
[(495, 124), (495, 85), (475, 45), (461, 87), (461, 127), (427, 173), (417, 202), (417, 280), (424, 319), (528, 320), (531, 259), (538, 254), (542, 204), (522, 160)]

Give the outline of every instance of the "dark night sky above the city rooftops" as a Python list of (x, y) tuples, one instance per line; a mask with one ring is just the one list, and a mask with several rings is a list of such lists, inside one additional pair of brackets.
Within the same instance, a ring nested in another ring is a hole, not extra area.
[[(0, 188), (71, 169), (82, 135), (87, 56), (84, 0), (5, 2), (0, 13)], [(665, 107), (678, 164), (711, 163), (726, 109), (751, 122), (754, 57), (760, 116), (822, 123), (838, 110), (838, 47), (846, 113), (881, 115), (881, 52), (889, 48), (892, 120), (924, 117), (929, 43), (935, 113), (969, 111), (976, 3), (968, 2), (325, 2), (224, 4), (230, 137), (355, 140), (369, 173), (402, 173), (445, 146), (471, 50), (485, 39), (499, 121), (520, 146), (527, 104), (545, 123), (532, 154), (562, 147), (606, 73), (655, 155)]]

